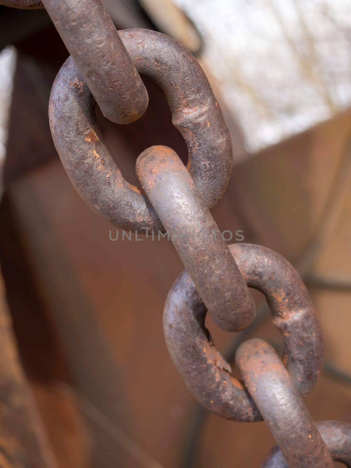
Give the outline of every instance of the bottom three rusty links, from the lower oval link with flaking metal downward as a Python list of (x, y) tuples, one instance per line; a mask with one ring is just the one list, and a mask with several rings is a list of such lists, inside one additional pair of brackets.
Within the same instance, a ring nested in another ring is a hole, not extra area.
[[(166, 300), (163, 329), (168, 351), (197, 400), (220, 417), (265, 420), (278, 447), (262, 468), (350, 466), (351, 424), (314, 424), (302, 397), (322, 371), (322, 329), (307, 290), (292, 265), (270, 249), (234, 244), (230, 250), (250, 287), (266, 297), (273, 323), (283, 336), (283, 362), (263, 340), (238, 348), (235, 361), (243, 382), (215, 348), (205, 328), (206, 307), (187, 271)], [(320, 434), (321, 432), (321, 434)]]

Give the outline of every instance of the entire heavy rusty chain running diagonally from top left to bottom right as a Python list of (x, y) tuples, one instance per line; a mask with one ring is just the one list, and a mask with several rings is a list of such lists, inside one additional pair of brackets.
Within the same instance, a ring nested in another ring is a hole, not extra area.
[[(331, 468), (333, 460), (351, 467), (351, 424), (314, 424), (302, 402), (321, 373), (324, 344), (300, 276), (276, 252), (251, 244), (228, 248), (216, 234), (209, 210), (227, 187), (232, 145), (197, 60), (161, 33), (117, 31), (101, 0), (0, 3), (45, 7), (71, 54), (53, 84), (49, 119), (56, 149), (80, 196), (117, 227), (171, 233), (186, 270), (168, 294), (163, 328), (190, 392), (221, 417), (266, 421), (278, 446), (262, 468)], [(185, 167), (170, 148), (146, 149), (136, 163), (141, 190), (124, 180), (95, 117), (97, 102), (114, 122), (138, 119), (148, 102), (139, 73), (163, 89), (189, 152)], [(215, 348), (205, 316), (209, 311), (228, 331), (246, 329), (255, 316), (248, 287), (263, 292), (268, 302), (282, 335), (285, 365), (263, 340), (246, 341), (235, 356), (239, 381)]]

